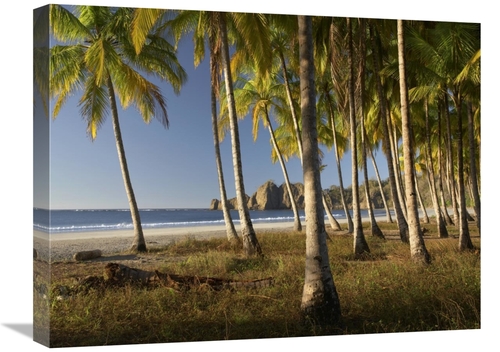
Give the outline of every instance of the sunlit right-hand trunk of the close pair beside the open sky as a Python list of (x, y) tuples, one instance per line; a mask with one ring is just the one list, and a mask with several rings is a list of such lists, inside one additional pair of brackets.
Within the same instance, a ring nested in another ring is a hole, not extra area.
[(220, 34), (222, 39), (222, 65), (224, 71), (224, 78), (226, 83), (227, 100), (228, 100), (228, 113), (229, 124), (231, 130), (231, 148), (233, 154), (234, 166), (234, 182), (236, 188), (236, 199), (238, 201), (238, 212), (240, 214), (241, 224), (241, 237), (243, 238), (243, 249), (246, 255), (253, 254), (262, 255), (262, 249), (253, 228), (252, 220), (250, 219), (250, 212), (246, 203), (245, 186), (243, 182), (243, 171), (241, 164), (240, 153), (240, 137), (238, 130), (238, 118), (236, 116), (236, 108), (233, 93), (233, 81), (231, 77), (231, 68), (229, 64), (229, 44), (227, 39), (227, 26), (225, 14), (221, 13), (220, 16)]

